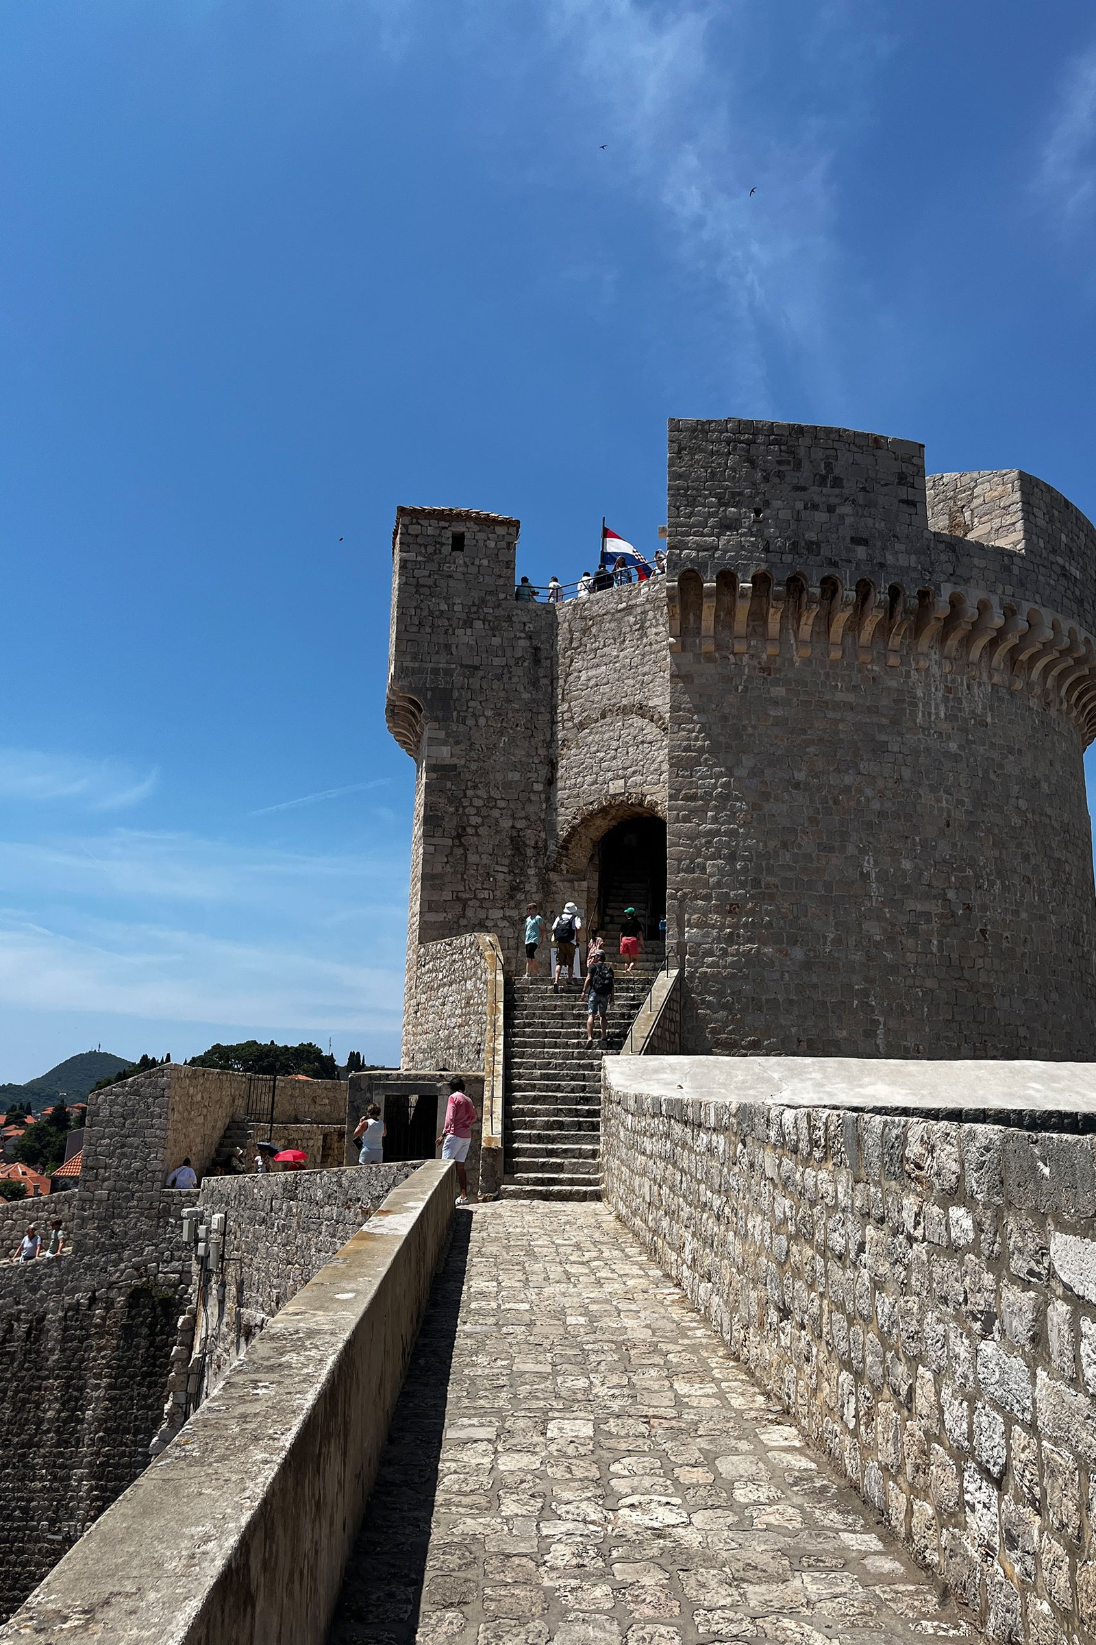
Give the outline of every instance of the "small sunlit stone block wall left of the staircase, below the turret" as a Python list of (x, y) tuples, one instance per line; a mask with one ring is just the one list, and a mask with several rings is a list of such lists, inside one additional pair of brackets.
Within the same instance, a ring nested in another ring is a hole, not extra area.
[(422, 943), (408, 990), (403, 1068), (483, 1069), (491, 1033), (491, 979), (501, 952), (493, 936)]

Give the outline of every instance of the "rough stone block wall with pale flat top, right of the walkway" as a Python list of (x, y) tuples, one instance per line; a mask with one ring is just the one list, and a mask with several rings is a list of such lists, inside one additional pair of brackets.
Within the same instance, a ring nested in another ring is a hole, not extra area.
[(991, 1637), (1091, 1642), (1094, 1071), (797, 1064), (606, 1058), (606, 1202)]

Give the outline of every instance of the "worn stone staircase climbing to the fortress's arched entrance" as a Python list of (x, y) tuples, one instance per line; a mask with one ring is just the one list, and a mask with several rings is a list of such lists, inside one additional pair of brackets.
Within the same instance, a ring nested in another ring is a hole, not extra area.
[(601, 1198), (601, 1056), (619, 1051), (662, 962), (652, 944), (631, 977), (610, 952), (616, 999), (608, 1046), (587, 1051), (582, 984), (559, 994), (546, 977), (506, 984), (504, 1199)]

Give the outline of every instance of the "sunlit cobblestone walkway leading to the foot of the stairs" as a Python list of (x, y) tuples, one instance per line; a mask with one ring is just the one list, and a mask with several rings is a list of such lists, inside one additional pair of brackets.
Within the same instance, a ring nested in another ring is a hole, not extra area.
[(458, 1212), (330, 1645), (958, 1637), (603, 1206)]

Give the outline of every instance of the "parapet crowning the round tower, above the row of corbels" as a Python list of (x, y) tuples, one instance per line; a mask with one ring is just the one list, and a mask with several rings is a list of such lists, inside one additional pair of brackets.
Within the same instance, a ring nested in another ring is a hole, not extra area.
[(779, 581), (833, 574), (846, 589), (861, 577), (907, 594), (960, 586), (1096, 628), (1096, 531), (1080, 510), (1017, 470), (938, 475), (927, 487), (915, 441), (670, 419), (667, 521), (674, 576), (692, 566), (751, 577), (766, 566)]

